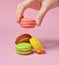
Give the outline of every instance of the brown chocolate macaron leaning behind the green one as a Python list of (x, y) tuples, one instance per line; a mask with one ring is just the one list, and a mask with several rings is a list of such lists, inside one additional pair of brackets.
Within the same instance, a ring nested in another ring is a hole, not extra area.
[(15, 44), (19, 44), (21, 42), (29, 42), (29, 39), (31, 38), (30, 34), (21, 34), (16, 38)]

